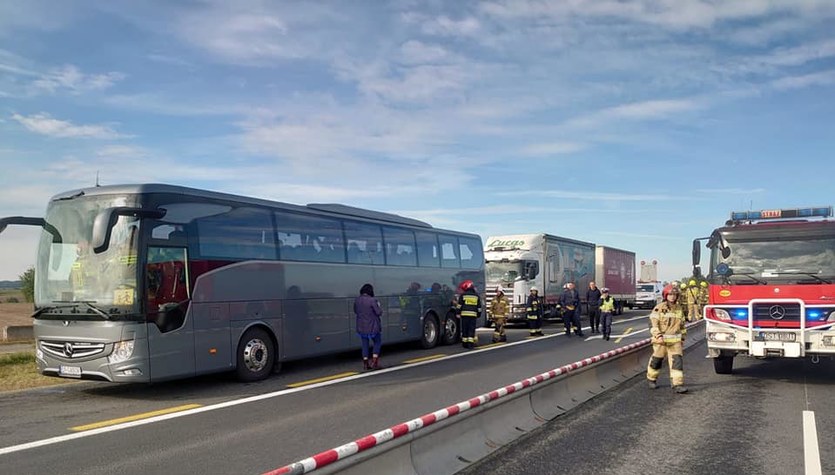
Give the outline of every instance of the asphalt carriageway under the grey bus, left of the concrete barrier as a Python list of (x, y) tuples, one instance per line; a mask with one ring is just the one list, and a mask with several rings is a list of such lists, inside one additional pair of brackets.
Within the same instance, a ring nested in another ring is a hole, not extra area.
[[(262, 473), (646, 338), (642, 315), (624, 315), (633, 320), (618, 323), (608, 342), (568, 339), (559, 326), (548, 325), (550, 337), (526, 340), (526, 330), (512, 329), (509, 344), (469, 352), (460, 346), (385, 347), (388, 370), (319, 387), (288, 386), (357, 371), (357, 355), (286, 365), (281, 374), (253, 384), (215, 376), (150, 386), (81, 382), (6, 393), (0, 398), (0, 467), (15, 474)], [(630, 335), (617, 342), (627, 329)], [(482, 342), (490, 332), (480, 331)], [(431, 356), (445, 358), (404, 364)], [(196, 409), (170, 419), (147, 418), (150, 411), (183, 407)], [(123, 424), (113, 426), (120, 419)], [(102, 428), (89, 426), (98, 423)]]

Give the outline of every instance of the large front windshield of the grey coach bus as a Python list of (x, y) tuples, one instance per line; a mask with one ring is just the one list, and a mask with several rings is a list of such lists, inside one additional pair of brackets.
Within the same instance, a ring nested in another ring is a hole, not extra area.
[(35, 271), (35, 307), (39, 318), (109, 319), (137, 313), (136, 282), (139, 223), (120, 216), (110, 246), (100, 254), (90, 244), (99, 211), (134, 206), (125, 197), (98, 196), (56, 200), (49, 204), (46, 222), (61, 242), (43, 231)]

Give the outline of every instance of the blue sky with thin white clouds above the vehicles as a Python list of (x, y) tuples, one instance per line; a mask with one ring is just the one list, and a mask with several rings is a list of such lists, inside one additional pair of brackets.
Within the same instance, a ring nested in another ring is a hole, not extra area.
[[(689, 273), (831, 205), (835, 2), (0, 3), (0, 216), (95, 183), (548, 232)], [(0, 280), (37, 233), (0, 235)]]

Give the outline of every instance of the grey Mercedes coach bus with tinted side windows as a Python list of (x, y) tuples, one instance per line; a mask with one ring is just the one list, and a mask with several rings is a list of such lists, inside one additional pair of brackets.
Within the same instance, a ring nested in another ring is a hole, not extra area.
[(359, 348), (353, 299), (374, 285), (383, 341), (459, 338), (458, 284), (484, 291), (474, 234), (336, 204), (291, 205), (163, 184), (54, 196), (35, 270), (48, 376), (151, 382)]

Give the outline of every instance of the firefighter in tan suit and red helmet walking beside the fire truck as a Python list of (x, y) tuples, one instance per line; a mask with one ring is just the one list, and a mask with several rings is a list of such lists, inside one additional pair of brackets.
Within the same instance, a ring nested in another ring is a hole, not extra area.
[(652, 357), (647, 365), (649, 388), (658, 387), (661, 364), (667, 358), (670, 366), (670, 383), (678, 394), (687, 392), (684, 386), (684, 363), (682, 342), (684, 339), (684, 308), (679, 303), (681, 292), (678, 287), (668, 285), (662, 291), (664, 301), (652, 309), (649, 315), (652, 334)]

